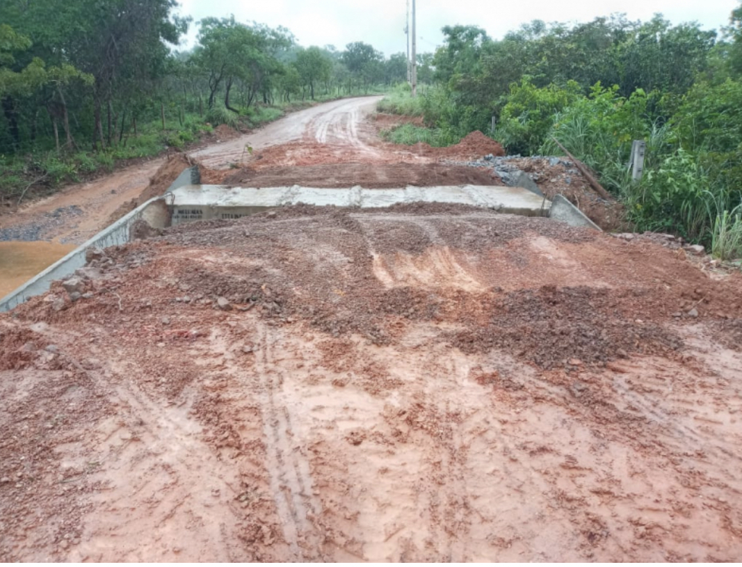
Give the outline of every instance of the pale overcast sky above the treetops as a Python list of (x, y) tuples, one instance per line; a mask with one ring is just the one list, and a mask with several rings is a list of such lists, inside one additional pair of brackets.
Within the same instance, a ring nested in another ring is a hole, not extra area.
[[(240, 22), (254, 20), (271, 27), (288, 27), (304, 47), (350, 42), (370, 43), (390, 55), (404, 51), (407, 0), (179, 0), (180, 13), (194, 22), (206, 16), (234, 14)], [(411, 0), (410, 0), (411, 1)], [(738, 0), (418, 0), (418, 51), (441, 45), (441, 27), (474, 24), (495, 39), (541, 19), (545, 22), (589, 22), (596, 16), (626, 13), (631, 20), (651, 19), (654, 13), (674, 24), (697, 21), (706, 29), (729, 23)], [(184, 47), (191, 47), (197, 26), (191, 25)]]

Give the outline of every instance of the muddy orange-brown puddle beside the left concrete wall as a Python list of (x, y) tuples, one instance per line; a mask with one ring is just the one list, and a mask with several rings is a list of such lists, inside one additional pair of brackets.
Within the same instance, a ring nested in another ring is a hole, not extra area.
[(0, 298), (25, 284), (76, 247), (75, 244), (41, 241), (0, 242)]

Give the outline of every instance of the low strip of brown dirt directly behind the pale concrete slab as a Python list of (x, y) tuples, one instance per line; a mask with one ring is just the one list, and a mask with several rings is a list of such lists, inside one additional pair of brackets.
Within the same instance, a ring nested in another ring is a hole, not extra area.
[(352, 187), (385, 189), (408, 185), (501, 185), (502, 180), (485, 168), (430, 164), (342, 163), (271, 168), (244, 168), (226, 176), (220, 183), (243, 187)]

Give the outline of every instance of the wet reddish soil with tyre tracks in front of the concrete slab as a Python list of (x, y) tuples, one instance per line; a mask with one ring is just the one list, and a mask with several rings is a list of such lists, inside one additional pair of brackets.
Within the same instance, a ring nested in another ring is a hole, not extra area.
[(0, 560), (742, 554), (742, 276), (683, 250), (297, 206), (80, 275), (0, 316)]

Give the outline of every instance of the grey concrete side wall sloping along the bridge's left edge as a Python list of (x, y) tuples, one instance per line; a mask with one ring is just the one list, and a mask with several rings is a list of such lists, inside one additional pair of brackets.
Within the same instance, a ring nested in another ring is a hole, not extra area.
[[(200, 173), (197, 166), (187, 168), (182, 174), (168, 187), (168, 191), (174, 191), (184, 185), (200, 182)], [(61, 280), (72, 275), (76, 269), (85, 266), (85, 251), (88, 248), (108, 248), (109, 246), (119, 246), (125, 244), (131, 239), (131, 226), (139, 219), (146, 220), (154, 228), (164, 228), (168, 225), (169, 219), (163, 217), (167, 214), (168, 208), (164, 206), (162, 197), (155, 197), (146, 203), (134, 209), (125, 217), (116, 220), (111, 226), (106, 227), (97, 235), (93, 236), (82, 246), (77, 247), (62, 260), (53, 263), (39, 275), (34, 276), (25, 284), (20, 286), (14, 292), (0, 299), (0, 312), (10, 311), (13, 307), (33, 298), (36, 295), (42, 295), (49, 291), (51, 283)]]

